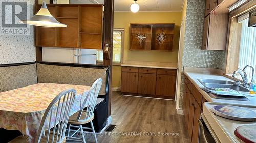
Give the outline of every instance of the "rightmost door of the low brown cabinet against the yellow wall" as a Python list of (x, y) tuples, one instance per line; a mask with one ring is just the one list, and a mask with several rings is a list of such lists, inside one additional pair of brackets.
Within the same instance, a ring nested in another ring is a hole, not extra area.
[(157, 75), (156, 95), (175, 97), (175, 86), (175, 75)]

